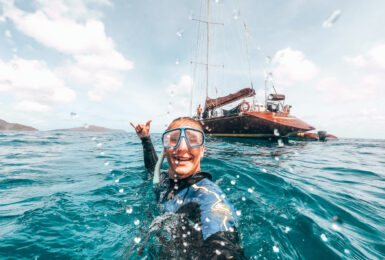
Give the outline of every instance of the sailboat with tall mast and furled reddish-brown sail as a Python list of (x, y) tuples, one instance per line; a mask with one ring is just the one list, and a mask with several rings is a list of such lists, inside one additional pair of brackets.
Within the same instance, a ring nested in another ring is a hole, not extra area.
[[(207, 0), (207, 20), (193, 20), (205, 23), (207, 31), (206, 62), (201, 63), (206, 66), (206, 97), (203, 109), (197, 109), (196, 114), (193, 116), (201, 122), (207, 135), (287, 138), (299, 132), (315, 129), (290, 114), (291, 106), (285, 105), (285, 95), (277, 93), (274, 85), (272, 86), (273, 93), (268, 93), (267, 80), (265, 80), (265, 100), (262, 104), (255, 101), (256, 94), (252, 83), (249, 88), (240, 89), (236, 93), (218, 98), (209, 98), (210, 26), (211, 24), (218, 24), (210, 21), (210, 0)], [(253, 101), (248, 102), (246, 101), (247, 98), (253, 98)], [(233, 104), (232, 108), (224, 109), (224, 106), (230, 104)]]

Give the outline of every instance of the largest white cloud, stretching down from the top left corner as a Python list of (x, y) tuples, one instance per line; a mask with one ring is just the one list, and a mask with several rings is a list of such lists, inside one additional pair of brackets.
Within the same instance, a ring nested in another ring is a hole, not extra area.
[(132, 69), (133, 62), (115, 49), (104, 24), (97, 19), (101, 14), (89, 8), (90, 4), (111, 5), (106, 0), (38, 0), (38, 9), (26, 12), (10, 1), (3, 9), (18, 30), (70, 55), (71, 62), (58, 71), (70, 81), (90, 85), (90, 99), (99, 101), (123, 85), (120, 72)]

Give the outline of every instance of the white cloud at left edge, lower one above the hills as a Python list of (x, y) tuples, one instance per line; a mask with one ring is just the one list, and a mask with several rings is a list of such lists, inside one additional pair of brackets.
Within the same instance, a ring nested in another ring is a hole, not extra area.
[[(15, 107), (47, 111), (49, 105), (69, 103), (76, 97), (63, 80), (38, 60), (0, 60), (0, 93), (21, 100)], [(34, 110), (34, 111), (35, 111)]]

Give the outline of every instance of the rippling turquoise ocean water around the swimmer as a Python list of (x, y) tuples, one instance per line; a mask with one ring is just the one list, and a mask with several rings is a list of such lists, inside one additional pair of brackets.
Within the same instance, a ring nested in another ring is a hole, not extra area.
[[(384, 140), (206, 146), (247, 258), (385, 258)], [(0, 259), (149, 259), (166, 217), (142, 156), (134, 134), (0, 132)]]

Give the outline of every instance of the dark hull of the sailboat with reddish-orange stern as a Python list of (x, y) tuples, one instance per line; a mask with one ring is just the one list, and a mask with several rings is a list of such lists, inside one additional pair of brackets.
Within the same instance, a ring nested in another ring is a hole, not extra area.
[(288, 137), (314, 127), (287, 113), (245, 112), (200, 120), (207, 135), (245, 138)]

